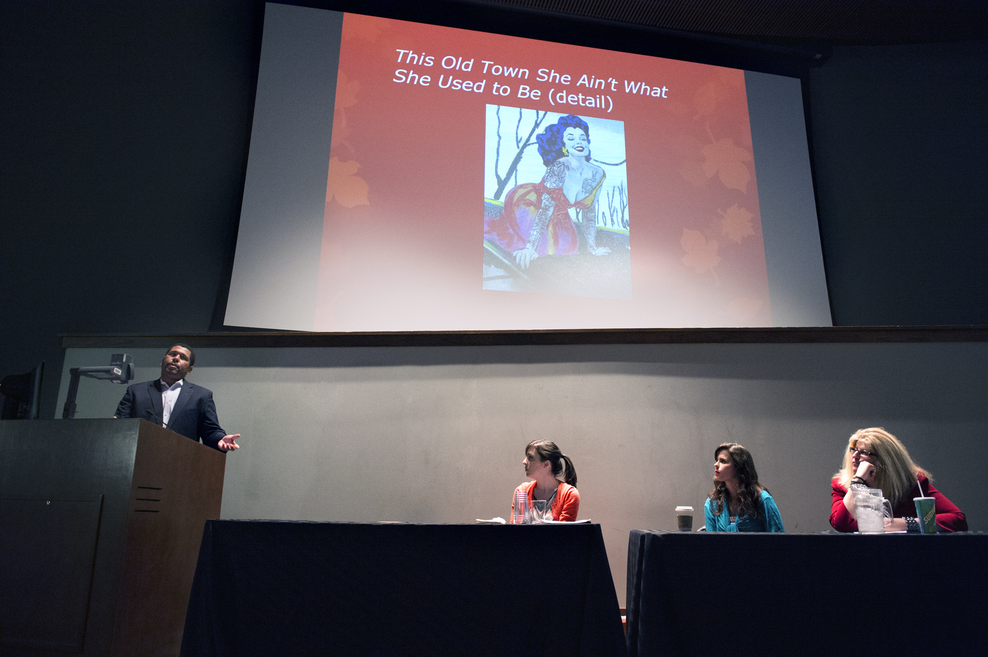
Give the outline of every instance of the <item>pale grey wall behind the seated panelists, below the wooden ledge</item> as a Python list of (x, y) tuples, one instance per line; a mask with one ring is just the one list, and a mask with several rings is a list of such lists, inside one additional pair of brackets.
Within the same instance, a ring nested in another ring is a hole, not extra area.
[[(120, 349), (124, 350), (124, 349)], [(68, 349), (69, 367), (114, 349)], [(131, 349), (137, 380), (163, 350)], [(700, 509), (713, 448), (748, 447), (787, 531), (829, 529), (830, 475), (865, 426), (898, 435), (988, 530), (978, 454), (988, 437), (988, 344), (690, 344), (211, 348), (190, 380), (243, 434), (224, 518), (471, 523), (507, 517), (523, 450), (554, 440), (579, 474), (580, 517), (604, 527), (623, 605), (631, 529)], [(79, 417), (109, 417), (122, 386), (84, 379)]]

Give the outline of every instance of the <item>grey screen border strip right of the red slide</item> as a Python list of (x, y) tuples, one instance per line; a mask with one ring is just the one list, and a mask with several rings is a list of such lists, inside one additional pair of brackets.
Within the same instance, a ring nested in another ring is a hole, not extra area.
[(744, 72), (772, 323), (831, 327), (820, 228), (797, 78)]

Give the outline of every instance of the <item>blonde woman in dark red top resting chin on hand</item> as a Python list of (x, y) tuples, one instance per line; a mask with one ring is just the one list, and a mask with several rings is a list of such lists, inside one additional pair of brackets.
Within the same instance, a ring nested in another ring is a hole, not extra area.
[[(937, 531), (966, 532), (967, 520), (943, 493), (933, 487), (933, 477), (909, 458), (899, 439), (881, 427), (859, 429), (848, 441), (844, 465), (834, 474), (830, 524), (838, 532), (857, 532), (853, 484), (881, 488), (892, 505), (892, 524), (886, 532), (919, 532), (914, 497), (936, 499)], [(921, 490), (922, 486), (922, 490)]]

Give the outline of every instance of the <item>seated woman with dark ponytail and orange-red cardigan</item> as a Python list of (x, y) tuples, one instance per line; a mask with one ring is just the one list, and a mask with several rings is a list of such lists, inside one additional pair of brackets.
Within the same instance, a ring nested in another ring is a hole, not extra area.
[[(525, 448), (525, 475), (535, 481), (527, 481), (515, 488), (516, 494), (524, 490), (529, 498), (529, 509), (535, 500), (545, 500), (552, 509), (552, 520), (576, 520), (580, 510), (580, 492), (576, 489), (576, 470), (569, 457), (548, 440), (533, 440)], [(517, 495), (516, 495), (517, 496)], [(515, 496), (511, 501), (511, 518), (515, 518)]]

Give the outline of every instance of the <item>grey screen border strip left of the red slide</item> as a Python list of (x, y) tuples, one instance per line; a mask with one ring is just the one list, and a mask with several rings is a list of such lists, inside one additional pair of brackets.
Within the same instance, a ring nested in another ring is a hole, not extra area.
[(313, 330), (343, 13), (265, 4), (223, 323)]

